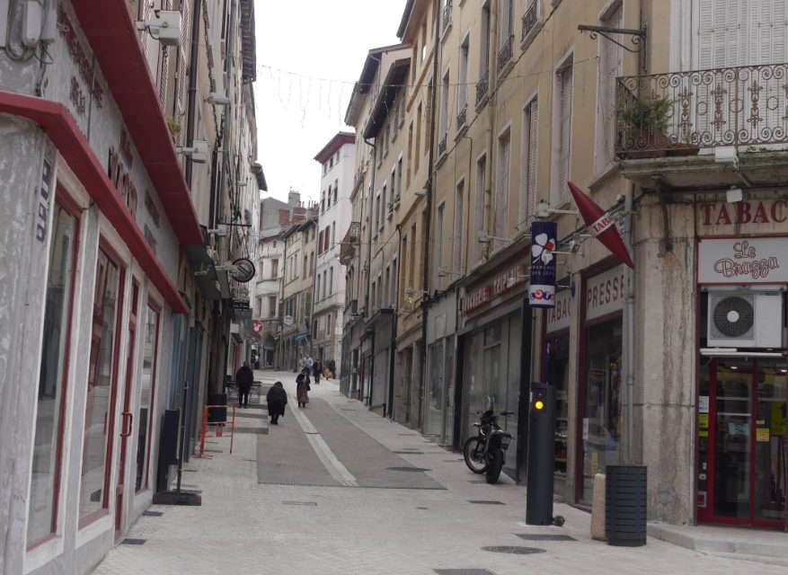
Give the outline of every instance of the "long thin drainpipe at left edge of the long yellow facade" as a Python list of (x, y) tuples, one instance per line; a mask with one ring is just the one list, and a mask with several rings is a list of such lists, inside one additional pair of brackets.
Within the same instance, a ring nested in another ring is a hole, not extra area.
[(422, 294), (421, 294), (421, 381), (419, 382), (419, 429), (424, 424), (424, 410), (422, 409), (421, 401), (424, 398), (424, 384), (427, 381), (427, 312), (429, 310), (429, 295), (423, 292), (429, 291), (429, 228), (432, 222), (432, 195), (434, 190), (434, 165), (435, 160), (435, 101), (438, 96), (438, 86), (436, 80), (438, 79), (438, 49), (440, 48), (440, 34), (438, 14), (440, 13), (440, 0), (435, 0), (435, 30), (432, 32), (434, 37), (432, 47), (432, 94), (429, 101), (429, 159), (428, 159), (428, 172), (427, 172), (427, 229), (424, 230), (424, 266), (421, 276)]

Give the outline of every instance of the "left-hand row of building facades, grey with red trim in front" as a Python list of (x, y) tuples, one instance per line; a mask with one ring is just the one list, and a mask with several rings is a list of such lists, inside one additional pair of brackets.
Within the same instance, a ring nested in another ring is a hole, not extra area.
[[(209, 374), (225, 371), (228, 310), (211, 257), (221, 245), (203, 226), (229, 221), (217, 206), (240, 181), (209, 177), (214, 146), (202, 143), (220, 135), (198, 118), (213, 113), (209, 94), (230, 100), (239, 126), (228, 137), (252, 194), (256, 130), (243, 89), (253, 31), (241, 22), (252, 5), (203, 14), (202, 4), (176, 4), (183, 33), (169, 48), (137, 30), (155, 18), (146, 3), (47, 4), (27, 36), (20, 11), (7, 22), (3, 572), (86, 572), (100, 562), (171, 486), (173, 461), (161, 455), (177, 437), (164, 434), (164, 414), (180, 411), (188, 446)], [(205, 54), (222, 35), (231, 49), (217, 51), (214, 70)], [(245, 202), (235, 199), (242, 214)]]

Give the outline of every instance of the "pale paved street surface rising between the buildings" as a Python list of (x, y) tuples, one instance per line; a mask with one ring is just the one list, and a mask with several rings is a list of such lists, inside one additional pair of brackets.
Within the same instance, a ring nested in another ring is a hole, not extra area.
[[(503, 475), (498, 484), (486, 484), (461, 454), (367, 411), (341, 395), (338, 382), (313, 383), (310, 403), (301, 409), (293, 374), (258, 371), (255, 377), (263, 381), (262, 403), (276, 379), (285, 384), (290, 397), (279, 425), (267, 422), (264, 404), (240, 410), (233, 453), (228, 433), (209, 438), (211, 458), (193, 457), (183, 473), (188, 488), (202, 491), (202, 506), (151, 507), (162, 515), (140, 517), (126, 544), (95, 573), (786, 572), (770, 564), (784, 562), (776, 558), (754, 562), (747, 554), (701, 553), (651, 537), (636, 548), (593, 541), (589, 514), (562, 504), (554, 513), (566, 517), (565, 526), (527, 526), (524, 487)], [(766, 537), (779, 543), (786, 535)], [(496, 547), (503, 549), (489, 549)], [(725, 551), (724, 545), (711, 548)]]

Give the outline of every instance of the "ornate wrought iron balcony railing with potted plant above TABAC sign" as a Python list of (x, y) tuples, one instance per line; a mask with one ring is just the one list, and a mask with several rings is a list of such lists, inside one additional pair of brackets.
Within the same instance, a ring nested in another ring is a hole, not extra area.
[(788, 64), (618, 78), (616, 153), (784, 144)]

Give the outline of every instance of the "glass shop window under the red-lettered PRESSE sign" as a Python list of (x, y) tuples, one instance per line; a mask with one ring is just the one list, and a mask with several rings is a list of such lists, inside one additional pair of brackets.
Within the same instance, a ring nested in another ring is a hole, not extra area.
[(593, 497), (594, 476), (619, 463), (621, 440), (621, 320), (588, 328), (582, 414), (581, 500)]

